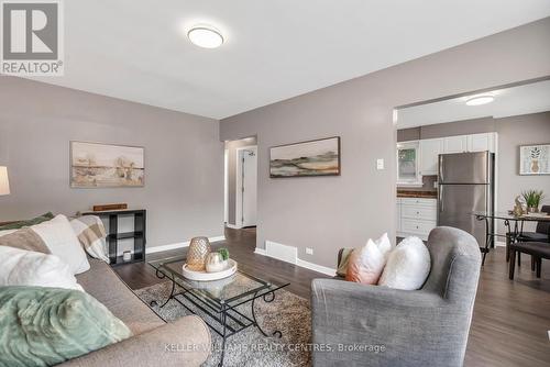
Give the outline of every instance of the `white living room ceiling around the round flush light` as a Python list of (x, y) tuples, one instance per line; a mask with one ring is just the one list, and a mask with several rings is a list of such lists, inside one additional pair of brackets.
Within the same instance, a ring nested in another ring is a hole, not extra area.
[[(70, 0), (65, 76), (40, 80), (230, 116), (550, 15), (548, 0)], [(186, 31), (210, 23), (218, 49)]]

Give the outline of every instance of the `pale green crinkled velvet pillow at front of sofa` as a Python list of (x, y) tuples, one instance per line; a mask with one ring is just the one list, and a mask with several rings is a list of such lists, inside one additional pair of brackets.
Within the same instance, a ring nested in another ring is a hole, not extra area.
[(131, 336), (88, 293), (44, 287), (0, 288), (0, 366), (53, 366)]

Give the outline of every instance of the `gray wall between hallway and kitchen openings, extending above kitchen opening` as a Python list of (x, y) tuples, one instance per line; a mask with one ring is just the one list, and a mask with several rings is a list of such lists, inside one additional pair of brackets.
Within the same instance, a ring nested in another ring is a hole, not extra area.
[[(339, 247), (394, 236), (393, 109), (550, 75), (548, 34), (544, 19), (222, 120), (222, 140), (257, 136), (256, 246), (297, 246), (300, 258), (334, 267)], [(334, 135), (342, 137), (341, 176), (270, 179), (270, 146)], [(376, 170), (376, 158), (386, 169)]]

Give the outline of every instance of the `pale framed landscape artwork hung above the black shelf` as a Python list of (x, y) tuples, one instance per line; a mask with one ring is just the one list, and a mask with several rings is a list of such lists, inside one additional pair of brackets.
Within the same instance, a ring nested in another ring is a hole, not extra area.
[(144, 148), (70, 142), (70, 187), (142, 187)]

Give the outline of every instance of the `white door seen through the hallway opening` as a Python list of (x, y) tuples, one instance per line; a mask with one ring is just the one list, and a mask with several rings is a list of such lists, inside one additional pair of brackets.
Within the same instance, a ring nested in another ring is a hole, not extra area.
[(257, 154), (256, 148), (241, 151), (242, 226), (256, 225)]

